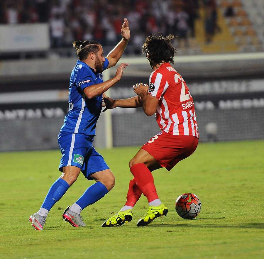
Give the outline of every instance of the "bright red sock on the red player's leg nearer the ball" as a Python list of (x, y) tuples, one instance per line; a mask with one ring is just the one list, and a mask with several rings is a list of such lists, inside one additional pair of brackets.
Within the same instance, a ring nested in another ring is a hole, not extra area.
[[(142, 191), (142, 193), (147, 197), (148, 202), (152, 202), (153, 200), (159, 198), (157, 191), (156, 191), (156, 188), (155, 188), (155, 185), (154, 185), (153, 176), (145, 164), (139, 163), (139, 164), (133, 165), (130, 168), (130, 171), (131, 171), (132, 175), (134, 175), (134, 177), (135, 177), (133, 179), (134, 182), (136, 183), (137, 187), (139, 187), (139, 189)], [(131, 183), (132, 181), (130, 181), (131, 185), (132, 185), (132, 183)], [(129, 184), (129, 187), (130, 187), (130, 184)], [(129, 193), (129, 190), (128, 190), (128, 193)], [(139, 193), (139, 192), (137, 192), (137, 193)], [(138, 199), (139, 199), (139, 197), (138, 197)], [(138, 201), (138, 199), (136, 200), (136, 202)], [(126, 204), (126, 205), (128, 205), (128, 204)], [(131, 206), (131, 205), (129, 205), (129, 206)]]

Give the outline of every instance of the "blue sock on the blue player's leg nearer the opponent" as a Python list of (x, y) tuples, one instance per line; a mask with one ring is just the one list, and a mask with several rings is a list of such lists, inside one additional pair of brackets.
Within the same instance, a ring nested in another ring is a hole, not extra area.
[(96, 182), (95, 184), (91, 185), (75, 203), (84, 209), (88, 205), (99, 201), (99, 199), (103, 198), (107, 193), (108, 190), (104, 184), (101, 182)]

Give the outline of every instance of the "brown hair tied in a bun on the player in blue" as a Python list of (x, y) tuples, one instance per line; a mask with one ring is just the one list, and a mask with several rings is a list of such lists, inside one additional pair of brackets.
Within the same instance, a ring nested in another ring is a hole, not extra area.
[(99, 51), (99, 45), (101, 44), (95, 40), (76, 40), (72, 43), (73, 48), (76, 49), (76, 54), (79, 60), (85, 60), (90, 53), (97, 53)]

